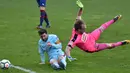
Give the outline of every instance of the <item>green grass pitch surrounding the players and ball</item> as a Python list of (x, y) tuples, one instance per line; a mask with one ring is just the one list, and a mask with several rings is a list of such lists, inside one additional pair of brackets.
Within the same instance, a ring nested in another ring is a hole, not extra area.
[[(63, 50), (71, 35), (78, 7), (76, 0), (47, 0), (51, 22), (49, 33), (57, 34)], [(123, 18), (108, 28), (98, 42), (117, 42), (130, 39), (130, 0), (81, 0), (87, 32), (117, 14)], [(35, 27), (39, 23), (39, 9), (35, 0), (0, 0), (0, 59), (9, 59), (14, 65), (32, 69), (37, 73), (130, 73), (130, 45), (89, 54), (78, 48), (72, 56), (78, 60), (68, 62), (67, 69), (55, 71), (48, 64), (39, 65), (37, 49), (39, 36)], [(44, 24), (45, 25), (45, 24)], [(16, 69), (0, 73), (25, 73)]]

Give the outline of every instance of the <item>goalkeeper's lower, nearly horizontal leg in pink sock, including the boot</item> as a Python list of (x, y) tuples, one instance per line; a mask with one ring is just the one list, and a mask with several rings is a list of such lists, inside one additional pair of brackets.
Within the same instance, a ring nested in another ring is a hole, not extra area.
[(104, 49), (111, 49), (114, 47), (129, 44), (129, 43), (130, 43), (130, 40), (124, 40), (124, 41), (120, 41), (120, 42), (116, 42), (116, 43), (97, 43), (96, 48), (97, 48), (97, 51), (101, 51)]

